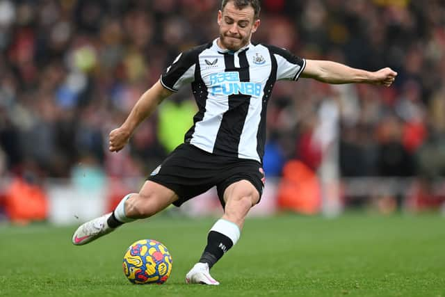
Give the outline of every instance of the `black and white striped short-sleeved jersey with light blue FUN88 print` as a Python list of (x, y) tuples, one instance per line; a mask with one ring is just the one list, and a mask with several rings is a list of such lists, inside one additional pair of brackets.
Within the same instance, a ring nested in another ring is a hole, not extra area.
[(213, 40), (180, 54), (161, 83), (173, 92), (191, 83), (198, 112), (186, 143), (262, 163), (266, 107), (275, 81), (296, 81), (305, 63), (279, 47), (249, 44), (229, 51)]

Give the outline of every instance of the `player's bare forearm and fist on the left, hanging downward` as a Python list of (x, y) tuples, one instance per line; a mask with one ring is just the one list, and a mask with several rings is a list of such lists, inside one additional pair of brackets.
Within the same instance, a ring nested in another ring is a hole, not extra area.
[(111, 152), (122, 150), (140, 122), (148, 118), (156, 109), (156, 106), (170, 95), (172, 95), (172, 91), (164, 88), (160, 81), (157, 81), (152, 88), (143, 93), (122, 126), (110, 132), (108, 150)]

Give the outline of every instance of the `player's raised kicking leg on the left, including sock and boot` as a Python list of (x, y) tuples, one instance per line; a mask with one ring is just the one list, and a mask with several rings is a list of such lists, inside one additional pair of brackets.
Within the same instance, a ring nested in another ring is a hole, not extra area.
[(72, 243), (75, 246), (90, 243), (113, 232), (124, 223), (157, 214), (177, 199), (178, 196), (174, 191), (161, 184), (147, 181), (139, 193), (128, 194), (122, 198), (113, 212), (79, 226), (72, 236)]

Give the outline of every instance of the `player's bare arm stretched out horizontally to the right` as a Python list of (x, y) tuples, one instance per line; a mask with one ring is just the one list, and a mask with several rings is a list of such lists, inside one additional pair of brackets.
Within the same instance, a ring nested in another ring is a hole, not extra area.
[(369, 72), (341, 63), (317, 60), (307, 60), (305, 70), (301, 74), (301, 77), (316, 79), (324, 83), (373, 83), (387, 87), (391, 86), (396, 76), (397, 72), (389, 67)]

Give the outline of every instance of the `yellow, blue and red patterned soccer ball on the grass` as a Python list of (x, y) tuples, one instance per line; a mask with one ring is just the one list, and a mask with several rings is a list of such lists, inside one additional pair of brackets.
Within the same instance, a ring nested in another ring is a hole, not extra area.
[(172, 256), (153, 239), (136, 241), (124, 255), (124, 274), (133, 284), (163, 284), (172, 272)]

